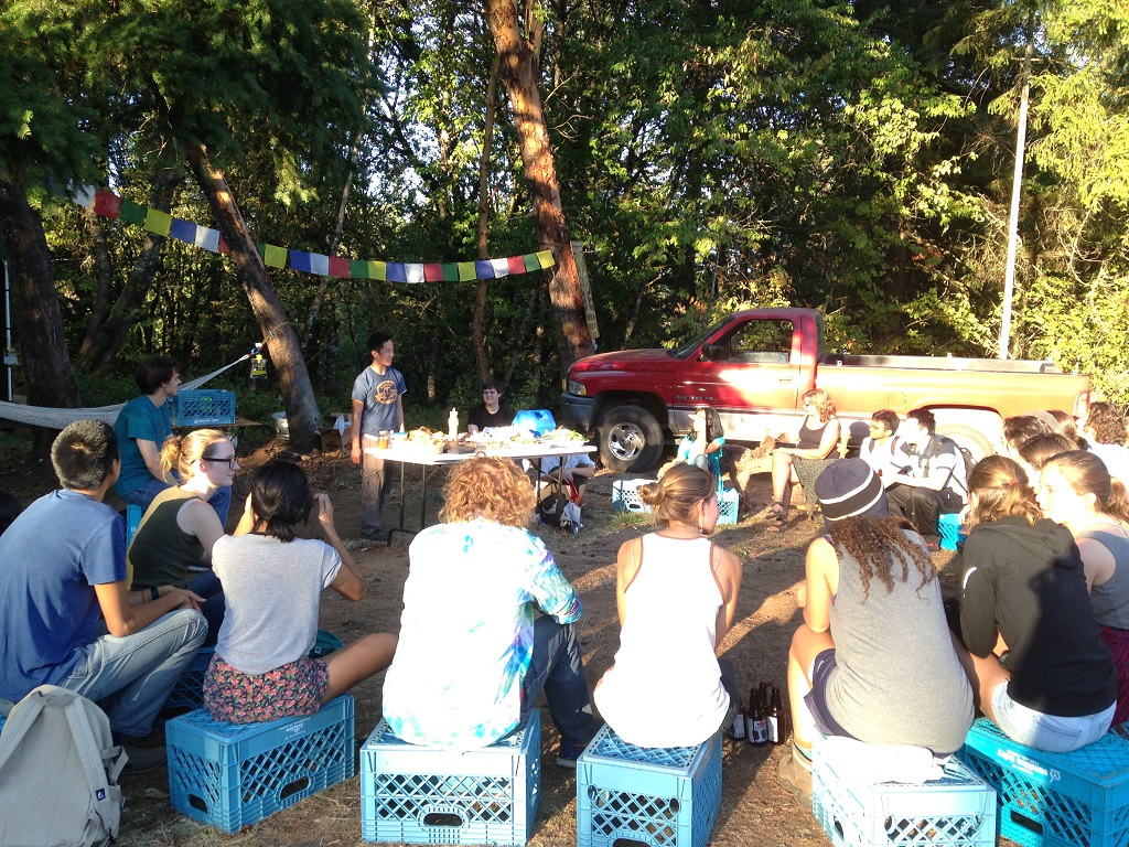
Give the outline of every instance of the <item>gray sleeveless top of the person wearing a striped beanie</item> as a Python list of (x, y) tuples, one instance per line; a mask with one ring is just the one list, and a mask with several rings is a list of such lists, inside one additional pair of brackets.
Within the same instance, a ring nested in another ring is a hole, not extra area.
[[(907, 532), (914, 543), (919, 535)], [(972, 725), (972, 689), (948, 635), (940, 580), (918, 592), (909, 562), (893, 568), (894, 588), (875, 576), (863, 600), (858, 562), (839, 553), (839, 591), (831, 606), (837, 667), (828, 680), (828, 709), (859, 741), (912, 744), (938, 756), (964, 743)]]

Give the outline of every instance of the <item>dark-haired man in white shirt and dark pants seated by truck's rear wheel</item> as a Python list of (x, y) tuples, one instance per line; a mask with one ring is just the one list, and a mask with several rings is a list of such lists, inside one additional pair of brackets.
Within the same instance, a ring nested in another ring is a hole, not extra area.
[(937, 436), (937, 419), (928, 409), (914, 409), (899, 429), (909, 445), (908, 469), (889, 480), (883, 475), (891, 514), (902, 514), (936, 549), (937, 517), (964, 508), (969, 481), (956, 445)]

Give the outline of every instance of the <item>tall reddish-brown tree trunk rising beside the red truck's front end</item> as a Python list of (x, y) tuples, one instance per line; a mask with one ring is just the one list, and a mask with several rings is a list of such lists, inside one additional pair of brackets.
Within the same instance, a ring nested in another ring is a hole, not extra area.
[(487, 21), (501, 62), (502, 81), (514, 111), (525, 178), (533, 198), (534, 228), (537, 239), (543, 247), (552, 251), (557, 260), (549, 277), (549, 298), (559, 330), (558, 351), (563, 384), (569, 366), (579, 358), (590, 356), (595, 347), (588, 332), (580, 277), (572, 255), (572, 236), (561, 209), (557, 166), (541, 107), (539, 53), (518, 29), (514, 0), (485, 0), (485, 5)]

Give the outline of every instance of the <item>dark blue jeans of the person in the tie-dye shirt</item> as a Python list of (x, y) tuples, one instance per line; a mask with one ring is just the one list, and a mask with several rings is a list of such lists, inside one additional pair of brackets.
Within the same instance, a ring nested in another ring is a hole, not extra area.
[(522, 683), (522, 721), (533, 711), (542, 691), (561, 736), (561, 756), (576, 759), (596, 734), (599, 722), (592, 714), (576, 631), (571, 623), (558, 623), (548, 615), (533, 622), (533, 656)]

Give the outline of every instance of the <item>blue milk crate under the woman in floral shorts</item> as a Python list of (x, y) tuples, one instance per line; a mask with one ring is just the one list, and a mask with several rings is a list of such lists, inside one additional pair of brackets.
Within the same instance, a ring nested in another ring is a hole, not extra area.
[(237, 832), (353, 775), (353, 699), (307, 717), (261, 724), (213, 721), (205, 709), (165, 725), (173, 807)]

